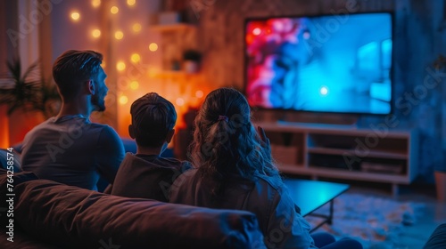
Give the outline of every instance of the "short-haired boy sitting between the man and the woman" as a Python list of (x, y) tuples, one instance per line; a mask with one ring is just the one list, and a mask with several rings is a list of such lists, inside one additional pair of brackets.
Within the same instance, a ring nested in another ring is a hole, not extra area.
[(130, 114), (128, 133), (136, 140), (136, 155), (128, 153), (124, 158), (111, 194), (167, 202), (173, 181), (192, 167), (186, 161), (161, 157), (175, 133), (177, 112), (169, 100), (150, 92), (133, 102)]

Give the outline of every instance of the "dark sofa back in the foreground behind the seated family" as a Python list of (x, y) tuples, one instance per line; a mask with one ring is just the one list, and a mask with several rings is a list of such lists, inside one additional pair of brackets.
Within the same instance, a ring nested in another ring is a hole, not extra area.
[[(9, 179), (0, 169), (2, 197)], [(0, 248), (266, 248), (253, 213), (115, 197), (27, 172), (12, 180), (13, 218), (0, 203)]]

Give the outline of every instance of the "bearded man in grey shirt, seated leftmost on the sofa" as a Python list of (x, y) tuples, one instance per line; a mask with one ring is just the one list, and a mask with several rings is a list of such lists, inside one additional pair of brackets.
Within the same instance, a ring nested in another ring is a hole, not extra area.
[(105, 109), (108, 88), (102, 60), (98, 52), (70, 50), (54, 62), (62, 108), (26, 134), (21, 154), (24, 171), (84, 189), (97, 190), (100, 176), (114, 181), (124, 158), (122, 141), (110, 126), (89, 120), (92, 111)]

